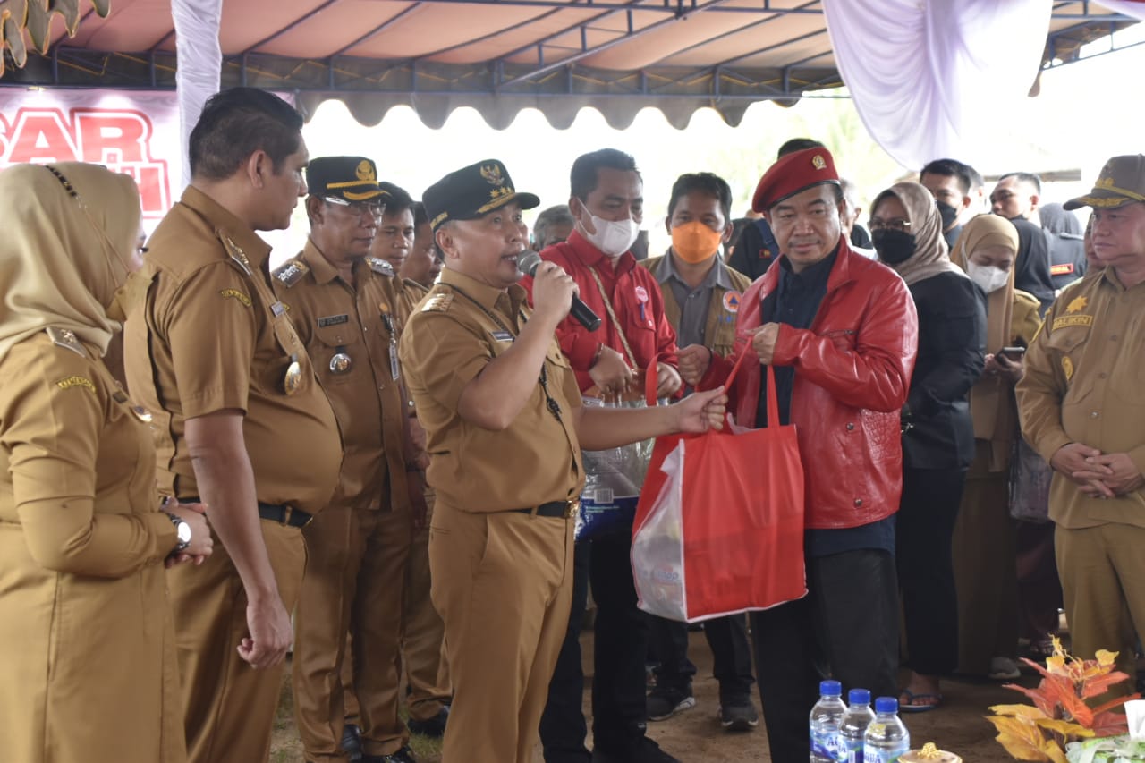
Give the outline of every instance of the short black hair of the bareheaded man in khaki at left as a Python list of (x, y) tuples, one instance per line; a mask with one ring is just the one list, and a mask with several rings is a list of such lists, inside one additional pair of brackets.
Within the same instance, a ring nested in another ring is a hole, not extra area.
[(275, 174), (302, 142), (302, 115), (277, 95), (232, 87), (207, 99), (187, 155), (191, 175), (226, 180), (255, 151), (266, 151)]

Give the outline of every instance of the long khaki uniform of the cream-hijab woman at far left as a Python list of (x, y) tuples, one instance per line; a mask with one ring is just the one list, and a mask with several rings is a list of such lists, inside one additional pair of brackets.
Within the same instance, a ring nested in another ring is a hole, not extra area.
[(41, 332), (0, 361), (0, 749), (13, 763), (180, 763), (163, 567), (175, 528), (151, 433), (72, 343)]

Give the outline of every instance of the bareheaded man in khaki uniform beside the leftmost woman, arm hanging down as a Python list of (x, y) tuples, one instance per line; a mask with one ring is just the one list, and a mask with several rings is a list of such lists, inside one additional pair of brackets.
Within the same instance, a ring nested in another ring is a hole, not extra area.
[(160, 493), (202, 501), (221, 542), (171, 571), (192, 763), (264, 761), (306, 548), (341, 443), (255, 230), (285, 228), (305, 191), (302, 118), (235, 88), (191, 133), (191, 186), (151, 237), (126, 372), (155, 416)]

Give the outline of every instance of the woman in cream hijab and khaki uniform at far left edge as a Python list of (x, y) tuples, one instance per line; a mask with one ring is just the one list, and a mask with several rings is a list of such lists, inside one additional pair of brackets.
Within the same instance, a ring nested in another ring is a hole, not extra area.
[(0, 209), (0, 760), (180, 763), (164, 564), (211, 534), (202, 506), (159, 510), (147, 416), (101, 360), (139, 192), (96, 165), (16, 165)]

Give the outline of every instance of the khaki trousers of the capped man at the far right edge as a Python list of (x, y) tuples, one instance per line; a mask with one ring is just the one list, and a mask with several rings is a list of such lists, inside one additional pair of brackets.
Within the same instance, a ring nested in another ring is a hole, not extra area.
[[(1058, 526), (1053, 542), (1073, 653), (1092, 659), (1097, 650), (1120, 651), (1118, 668), (1136, 676), (1134, 646), (1145, 637), (1145, 528)], [(1113, 691), (1129, 693), (1132, 683)]]

